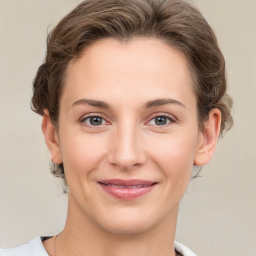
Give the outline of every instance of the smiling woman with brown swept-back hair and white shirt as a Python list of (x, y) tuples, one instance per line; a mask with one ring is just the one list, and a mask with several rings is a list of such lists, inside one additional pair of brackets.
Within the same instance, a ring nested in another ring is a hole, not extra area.
[(47, 40), (32, 109), (63, 179), (53, 237), (0, 255), (194, 255), (174, 242), (192, 168), (230, 128), (215, 35), (186, 0), (85, 0)]

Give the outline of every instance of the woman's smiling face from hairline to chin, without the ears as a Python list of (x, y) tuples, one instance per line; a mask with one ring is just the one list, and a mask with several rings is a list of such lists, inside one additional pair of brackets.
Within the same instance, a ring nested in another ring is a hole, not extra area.
[(202, 137), (186, 60), (159, 40), (104, 39), (69, 64), (57, 159), (74, 215), (114, 233), (176, 216)]

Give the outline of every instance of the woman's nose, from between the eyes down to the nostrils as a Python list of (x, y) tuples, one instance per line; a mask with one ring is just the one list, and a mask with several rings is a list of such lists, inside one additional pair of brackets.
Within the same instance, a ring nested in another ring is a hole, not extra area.
[(111, 150), (108, 151), (108, 161), (122, 170), (133, 169), (146, 161), (139, 129), (135, 125), (127, 126), (116, 128), (109, 141)]

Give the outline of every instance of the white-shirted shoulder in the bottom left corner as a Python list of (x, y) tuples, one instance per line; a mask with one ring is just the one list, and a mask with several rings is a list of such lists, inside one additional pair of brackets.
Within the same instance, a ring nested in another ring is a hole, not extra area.
[(48, 236), (38, 236), (28, 243), (14, 248), (0, 249), (0, 256), (48, 256), (42, 245), (42, 240), (50, 238)]

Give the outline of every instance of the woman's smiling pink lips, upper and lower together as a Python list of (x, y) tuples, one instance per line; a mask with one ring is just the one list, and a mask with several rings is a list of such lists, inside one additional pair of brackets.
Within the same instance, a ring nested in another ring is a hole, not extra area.
[(156, 181), (142, 179), (104, 179), (98, 184), (110, 195), (122, 200), (132, 200), (150, 192)]

